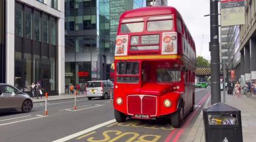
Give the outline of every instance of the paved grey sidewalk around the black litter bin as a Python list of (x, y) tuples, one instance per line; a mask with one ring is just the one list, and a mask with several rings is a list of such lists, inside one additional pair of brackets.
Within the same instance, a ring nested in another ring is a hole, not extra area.
[[(223, 92), (221, 92), (221, 101), (223, 101), (222, 94)], [(210, 103), (211, 101), (209, 101), (208, 105)], [(243, 142), (256, 141), (256, 97), (250, 96), (245, 98), (241, 95), (237, 98), (235, 95), (227, 95), (226, 93), (226, 104), (241, 110)], [(202, 112), (184, 139), (185, 141), (205, 142)]]

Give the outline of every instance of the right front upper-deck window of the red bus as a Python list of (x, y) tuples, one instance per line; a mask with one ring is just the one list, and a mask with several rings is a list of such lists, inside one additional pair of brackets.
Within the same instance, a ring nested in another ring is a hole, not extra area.
[(173, 29), (173, 20), (148, 21), (148, 31), (163, 31)]

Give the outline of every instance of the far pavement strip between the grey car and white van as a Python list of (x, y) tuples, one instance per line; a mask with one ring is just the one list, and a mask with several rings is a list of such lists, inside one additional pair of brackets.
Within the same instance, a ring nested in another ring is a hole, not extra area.
[[(77, 95), (77, 98), (85, 98), (86, 95)], [(74, 98), (74, 95), (57, 95), (57, 96), (48, 96), (48, 101), (57, 101), (57, 100), (63, 100), (63, 99), (72, 99)], [(45, 102), (45, 96), (41, 99), (31, 98), (33, 102)]]

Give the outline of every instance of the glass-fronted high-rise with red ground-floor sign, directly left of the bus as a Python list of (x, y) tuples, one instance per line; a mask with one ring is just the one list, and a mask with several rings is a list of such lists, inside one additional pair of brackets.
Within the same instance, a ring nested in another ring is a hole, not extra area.
[(65, 0), (65, 85), (108, 79), (110, 1)]

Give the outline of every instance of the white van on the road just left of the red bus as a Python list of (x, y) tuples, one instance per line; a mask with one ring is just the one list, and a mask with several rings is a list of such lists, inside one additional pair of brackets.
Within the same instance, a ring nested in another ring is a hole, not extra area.
[(90, 100), (92, 98), (101, 97), (102, 99), (107, 99), (114, 95), (113, 93), (114, 83), (108, 80), (90, 81), (87, 83), (87, 98)]

